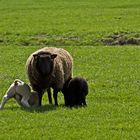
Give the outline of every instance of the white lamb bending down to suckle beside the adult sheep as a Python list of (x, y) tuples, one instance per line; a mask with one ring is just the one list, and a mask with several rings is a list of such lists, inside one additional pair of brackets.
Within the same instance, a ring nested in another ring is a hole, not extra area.
[(23, 81), (16, 79), (8, 88), (0, 104), (0, 110), (4, 108), (6, 102), (15, 98), (17, 103), (23, 107), (39, 106), (38, 93), (31, 91), (30, 87)]

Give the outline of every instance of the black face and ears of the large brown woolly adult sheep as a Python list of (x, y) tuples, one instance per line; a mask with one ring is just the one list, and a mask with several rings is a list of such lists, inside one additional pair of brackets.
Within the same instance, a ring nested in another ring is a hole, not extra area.
[(36, 69), (42, 76), (47, 76), (53, 71), (53, 62), (57, 54), (38, 53), (33, 55)]

